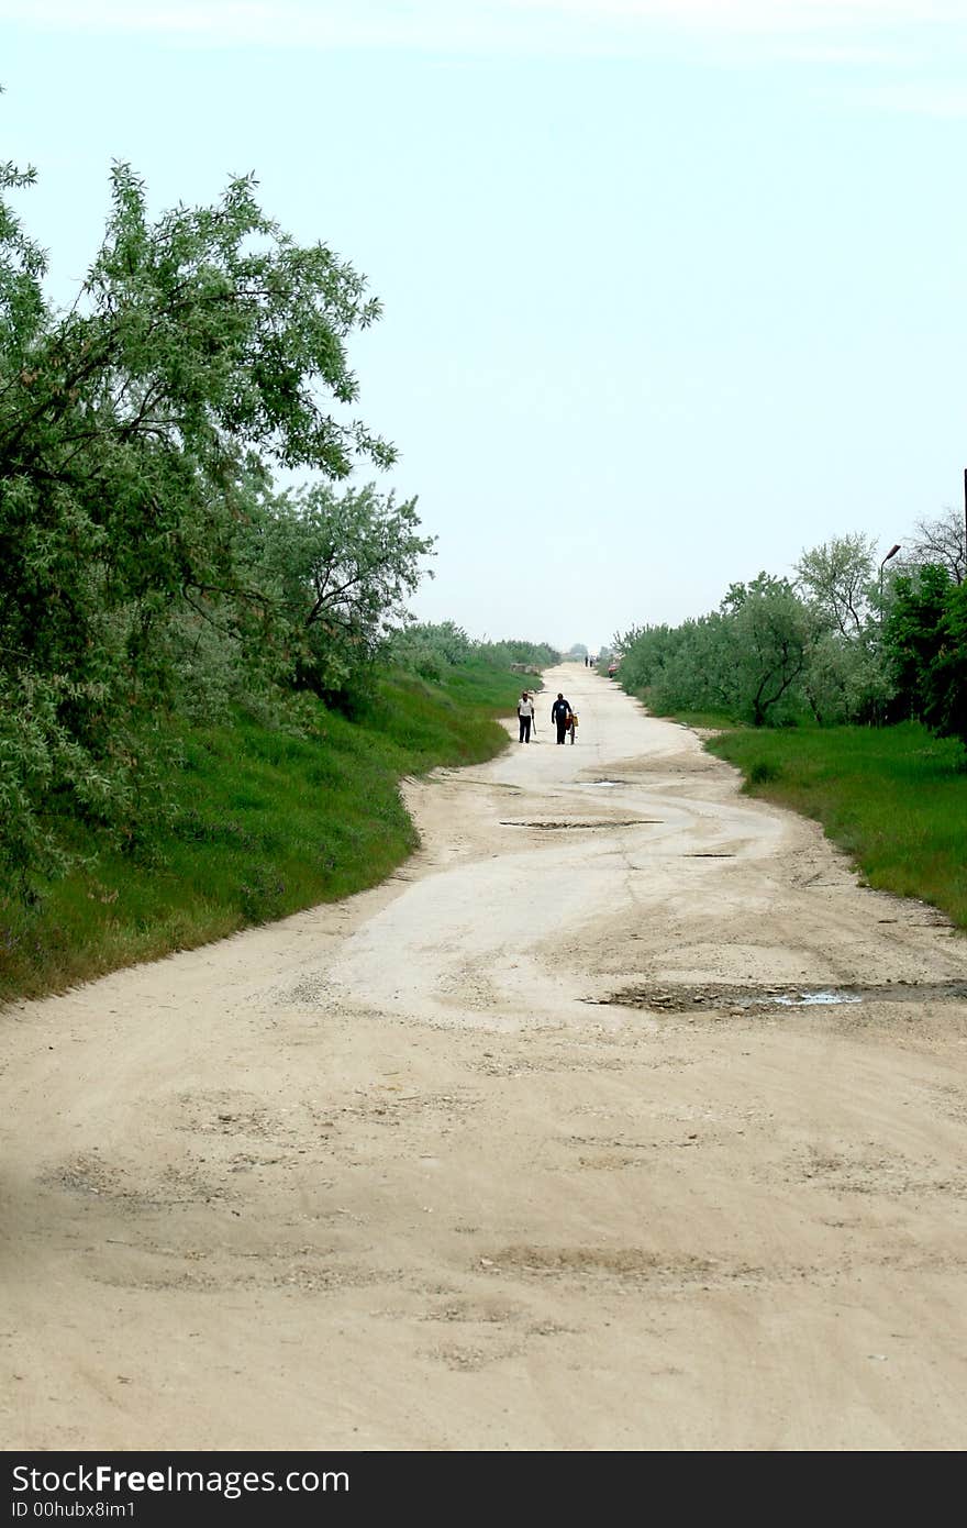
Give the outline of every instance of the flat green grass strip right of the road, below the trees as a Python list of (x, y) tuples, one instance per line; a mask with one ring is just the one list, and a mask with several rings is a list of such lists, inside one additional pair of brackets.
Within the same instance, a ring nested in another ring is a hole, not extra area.
[(744, 790), (822, 822), (878, 891), (967, 929), (967, 772), (958, 743), (897, 727), (738, 727), (706, 744)]

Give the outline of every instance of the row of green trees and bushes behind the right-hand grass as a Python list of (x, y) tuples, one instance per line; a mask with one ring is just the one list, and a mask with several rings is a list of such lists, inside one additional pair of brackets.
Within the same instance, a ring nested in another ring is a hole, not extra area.
[(967, 741), (967, 538), (953, 510), (898, 556), (869, 536), (804, 552), (794, 578), (732, 584), (718, 610), (616, 637), (620, 680), (660, 711), (755, 726), (918, 718)]

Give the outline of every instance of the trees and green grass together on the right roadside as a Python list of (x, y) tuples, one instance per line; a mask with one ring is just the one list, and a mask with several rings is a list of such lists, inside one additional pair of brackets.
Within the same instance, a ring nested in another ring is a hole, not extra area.
[(796, 578), (616, 639), (619, 681), (718, 735), (744, 788), (822, 822), (871, 886), (967, 929), (967, 544), (953, 510), (880, 558), (849, 535)]

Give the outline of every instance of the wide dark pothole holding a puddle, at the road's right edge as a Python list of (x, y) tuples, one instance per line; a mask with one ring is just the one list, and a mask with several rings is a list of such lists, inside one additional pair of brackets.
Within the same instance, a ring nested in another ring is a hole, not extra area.
[(695, 1013), (703, 1008), (724, 1008), (735, 1013), (767, 1013), (770, 1008), (826, 1008), (855, 1002), (964, 1002), (967, 981), (888, 981), (862, 986), (797, 987), (797, 986), (698, 986), (649, 984), (623, 987), (610, 998), (591, 1002), (619, 1004), (626, 1008), (649, 1008), (665, 1013)]

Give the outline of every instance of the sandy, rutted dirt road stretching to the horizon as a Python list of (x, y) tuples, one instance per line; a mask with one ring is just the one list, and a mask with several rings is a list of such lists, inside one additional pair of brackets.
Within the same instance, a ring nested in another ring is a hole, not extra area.
[(964, 941), (558, 688), (386, 886), (0, 1015), (5, 1447), (967, 1444)]

